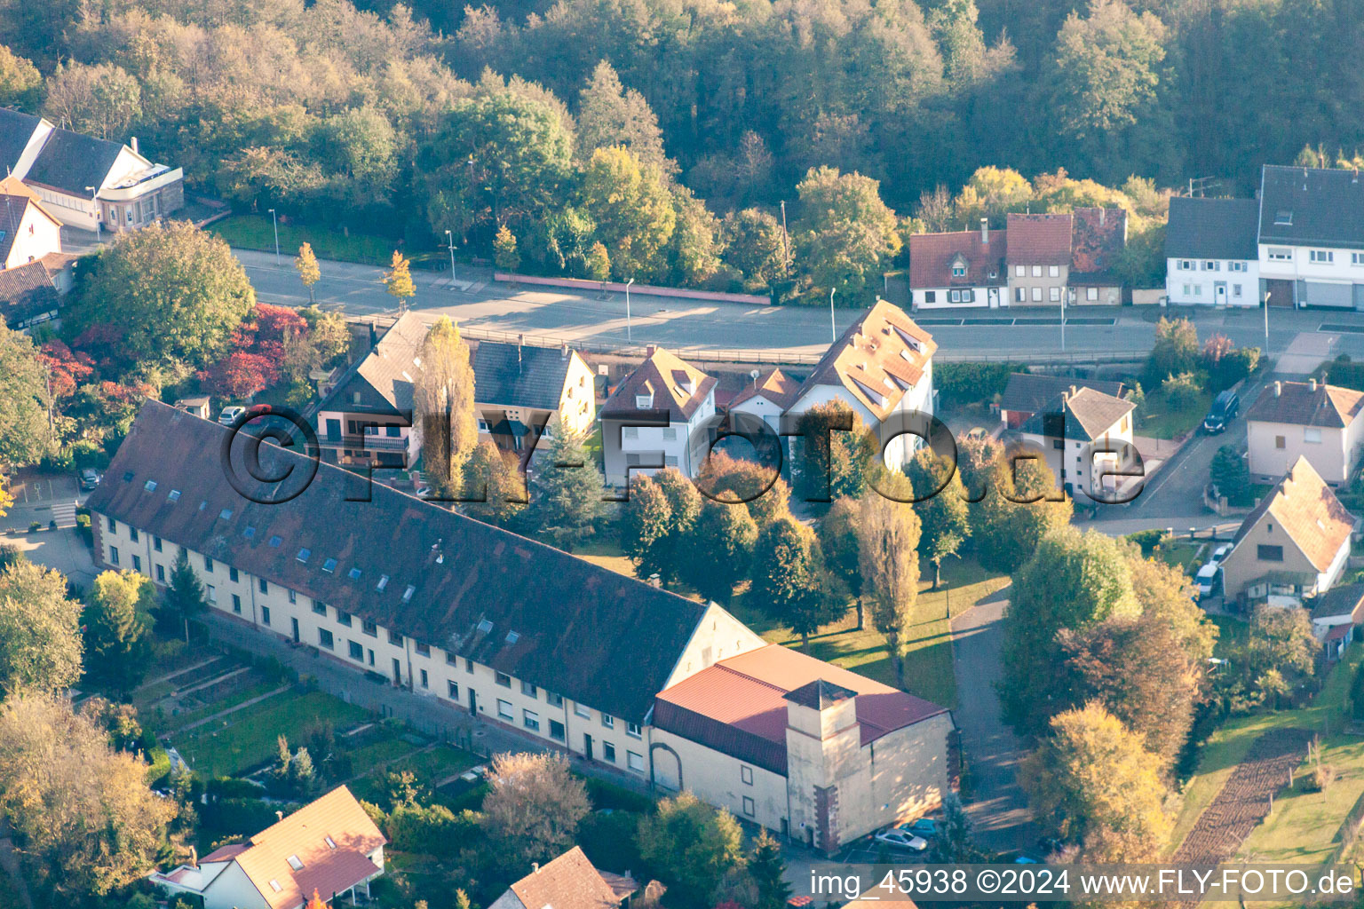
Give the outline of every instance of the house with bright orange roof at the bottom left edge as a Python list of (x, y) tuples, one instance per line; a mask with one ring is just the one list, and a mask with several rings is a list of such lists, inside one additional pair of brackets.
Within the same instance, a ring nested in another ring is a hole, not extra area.
[(172, 895), (199, 897), (205, 909), (299, 909), (314, 893), (353, 901), (383, 874), (385, 842), (340, 786), (244, 842), (149, 879)]

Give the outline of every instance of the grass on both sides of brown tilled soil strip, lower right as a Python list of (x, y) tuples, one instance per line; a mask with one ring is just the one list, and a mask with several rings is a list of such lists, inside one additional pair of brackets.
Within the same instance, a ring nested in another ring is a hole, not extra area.
[(1353, 666), (1361, 658), (1364, 647), (1354, 645), (1346, 660), (1334, 668), (1311, 706), (1234, 717), (1211, 735), (1199, 755), (1198, 771), (1184, 789), (1184, 803), (1170, 837), (1172, 853), (1194, 829), (1198, 816), (1222, 789), (1251, 744), (1271, 729), (1292, 728), (1323, 733), (1324, 760), (1337, 767), (1339, 780), (1324, 800), (1320, 793), (1301, 792), (1285, 793), (1277, 799), (1274, 812), (1251, 833), (1239, 854), (1247, 860), (1255, 856), (1256, 861), (1264, 863), (1320, 861), (1330, 852), (1345, 812), (1364, 792), (1364, 740), (1333, 735), (1344, 728)]

